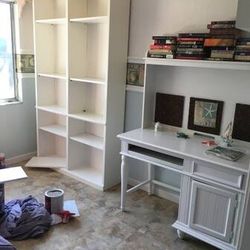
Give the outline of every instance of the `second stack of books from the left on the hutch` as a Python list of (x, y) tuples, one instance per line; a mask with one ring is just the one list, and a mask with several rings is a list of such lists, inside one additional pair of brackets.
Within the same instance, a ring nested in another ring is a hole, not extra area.
[(206, 33), (180, 33), (177, 38), (176, 59), (202, 60)]

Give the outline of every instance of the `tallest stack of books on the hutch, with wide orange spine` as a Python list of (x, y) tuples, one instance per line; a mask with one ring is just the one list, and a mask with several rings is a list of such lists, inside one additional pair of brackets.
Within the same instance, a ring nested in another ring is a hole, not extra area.
[(206, 59), (232, 61), (236, 37), (241, 35), (241, 30), (235, 28), (235, 21), (212, 21), (207, 27), (210, 32), (204, 42)]

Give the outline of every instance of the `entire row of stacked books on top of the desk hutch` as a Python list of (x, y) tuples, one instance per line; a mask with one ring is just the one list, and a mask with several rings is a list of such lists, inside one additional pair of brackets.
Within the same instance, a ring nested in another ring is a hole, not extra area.
[(249, 61), (250, 35), (237, 29), (235, 21), (213, 21), (209, 33), (153, 36), (147, 56), (151, 58)]

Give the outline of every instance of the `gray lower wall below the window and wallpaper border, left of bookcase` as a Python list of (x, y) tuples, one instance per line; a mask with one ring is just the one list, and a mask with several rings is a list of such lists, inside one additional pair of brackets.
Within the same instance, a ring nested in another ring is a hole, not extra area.
[(6, 158), (36, 151), (35, 82), (20, 81), (23, 103), (0, 106), (0, 151)]

